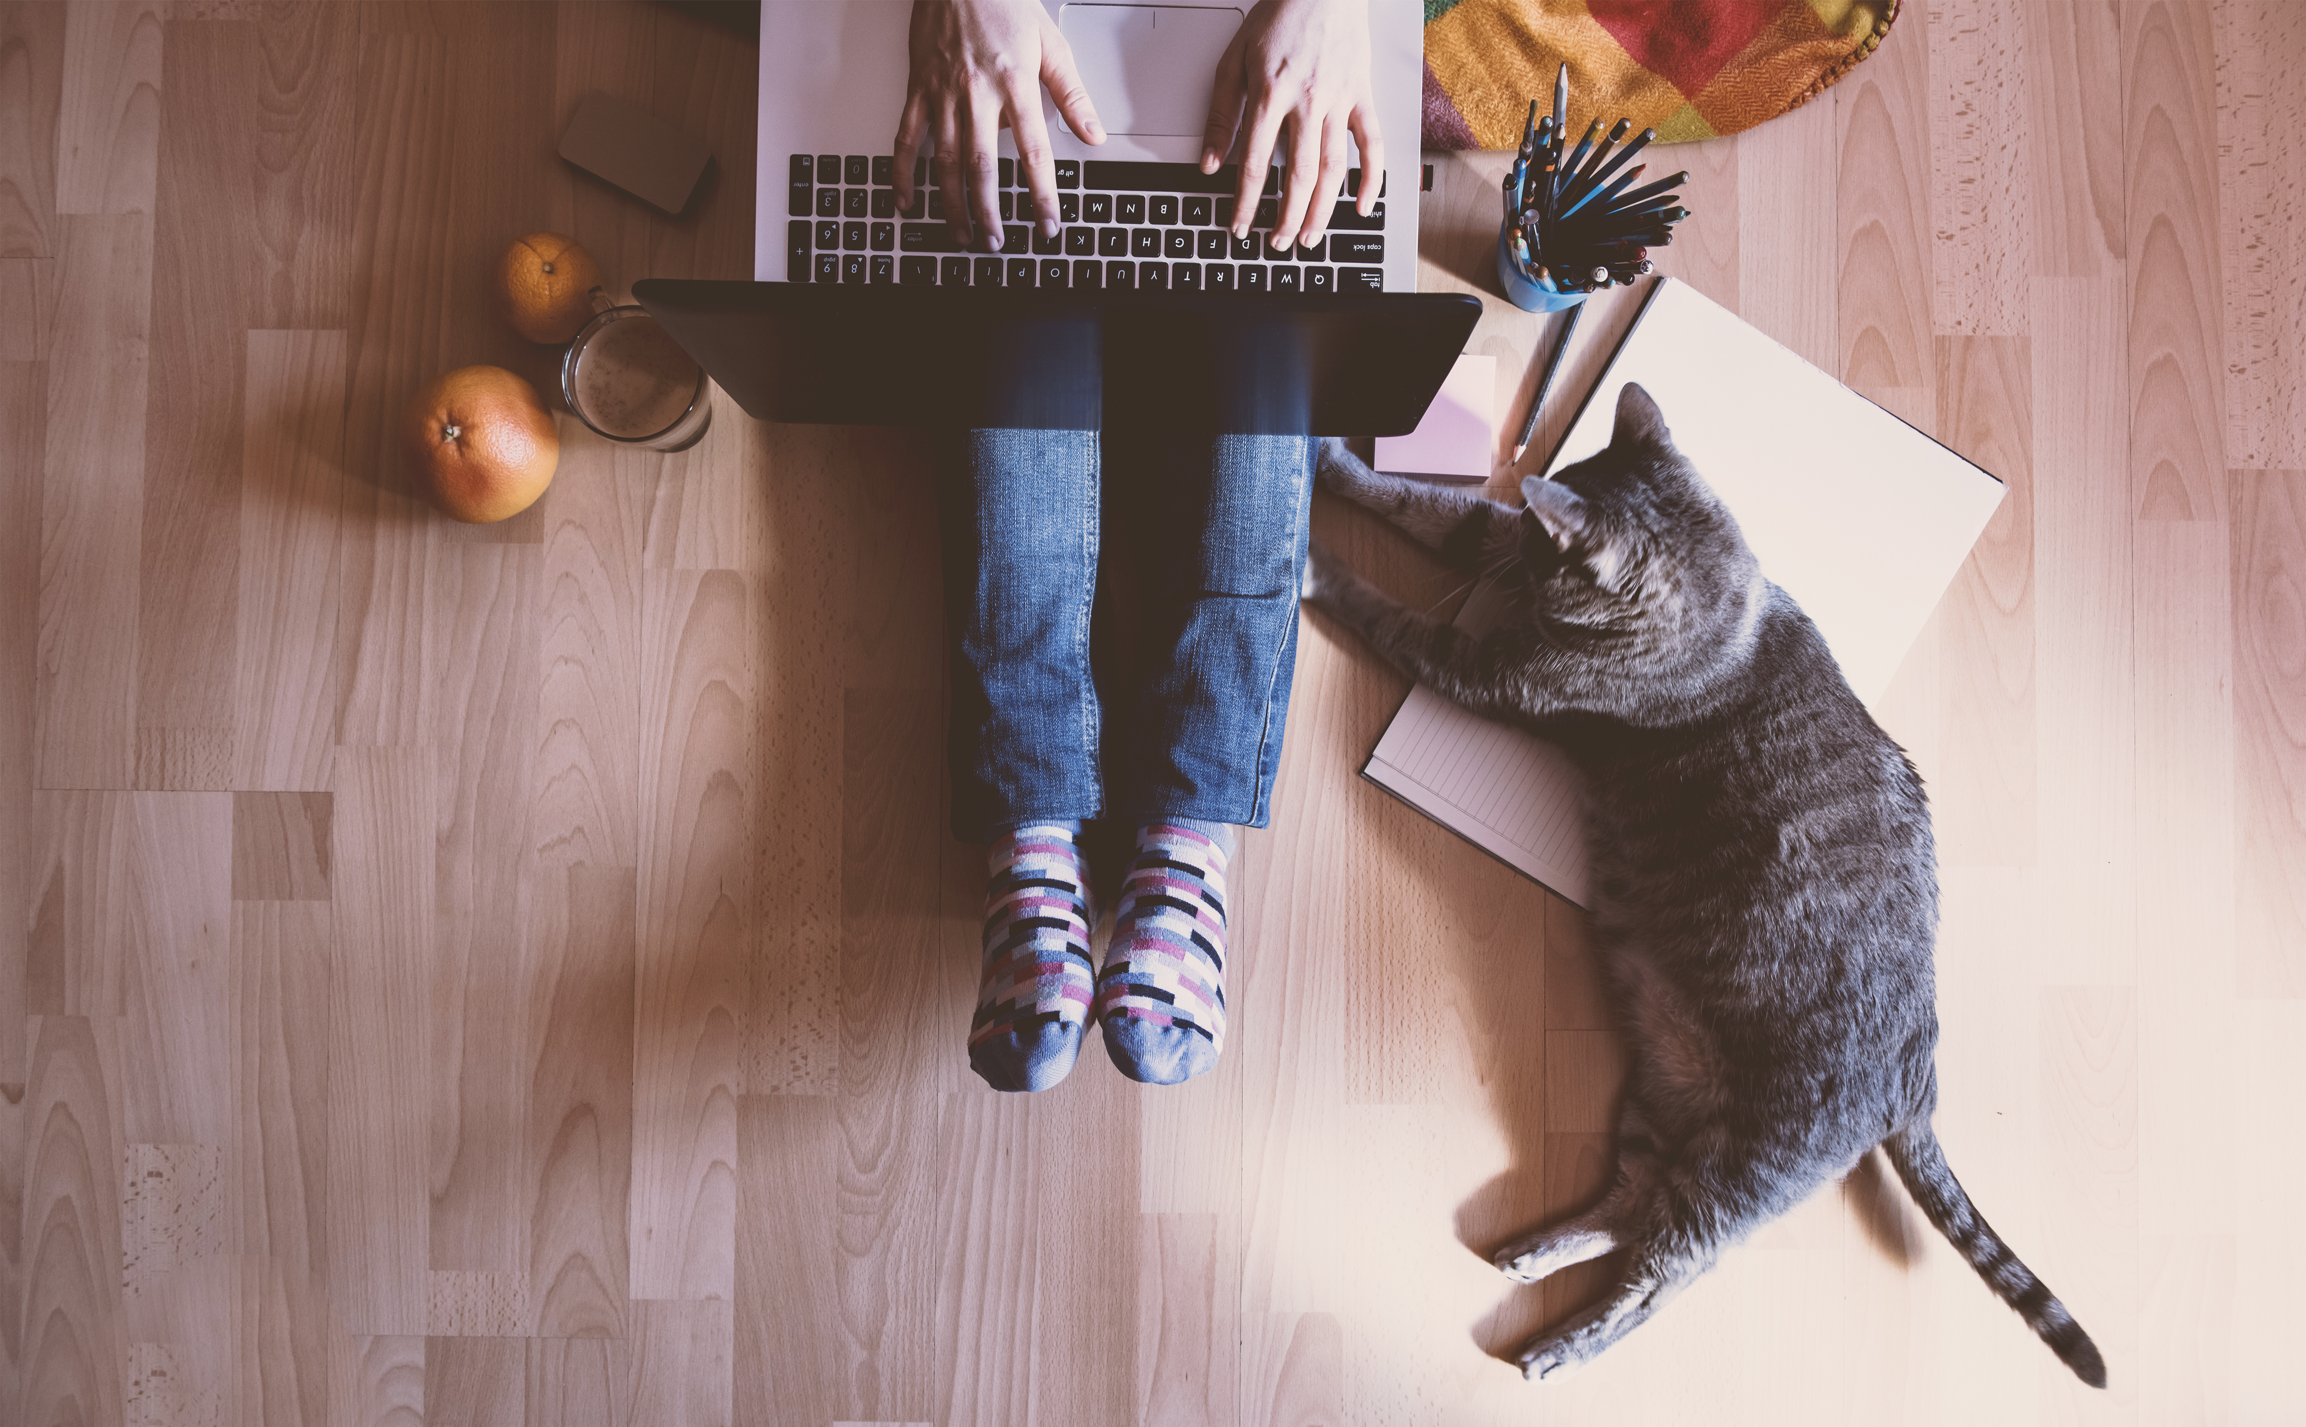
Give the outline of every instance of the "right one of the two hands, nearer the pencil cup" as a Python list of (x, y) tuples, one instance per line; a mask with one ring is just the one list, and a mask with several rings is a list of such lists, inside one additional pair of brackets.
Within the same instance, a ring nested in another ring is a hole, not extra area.
[(1321, 242), (1331, 201), (1351, 166), (1347, 134), (1361, 145), (1358, 212), (1367, 217), (1386, 173), (1386, 141), (1377, 131), (1377, 97), (1370, 90), (1367, 0), (1259, 0), (1218, 60), (1218, 88), (1201, 136), (1201, 173), (1215, 173), (1234, 138), (1245, 136), (1234, 237), (1245, 237), (1257, 221), (1257, 198), (1280, 141), (1287, 143), (1289, 180), (1271, 242)]

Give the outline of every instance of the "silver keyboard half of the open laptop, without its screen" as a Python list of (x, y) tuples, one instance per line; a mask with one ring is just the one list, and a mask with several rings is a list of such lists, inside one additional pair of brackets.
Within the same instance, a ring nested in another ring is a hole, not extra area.
[(1372, 178), (1361, 173), (1356, 148), (1328, 237), (1282, 254), (1264, 242), (1280, 168), (1268, 175), (1254, 228), (1238, 242), (1229, 231), (1238, 171), (1199, 168), (1218, 58), (1248, 0), (1042, 5), (1072, 46), (1107, 138), (1100, 145), (1075, 138), (1040, 92), (1063, 231), (1054, 240), (1033, 231), (1015, 138), (1003, 129), (1003, 244), (998, 254), (971, 254), (952, 242), (943, 196), (925, 191), (927, 184), (918, 184), (911, 212), (897, 210), (890, 148), (904, 108), (911, 0), (766, 0), (754, 277), (915, 288), (1416, 293), (1420, 0), (1370, 0), (1370, 81), (1386, 136), (1377, 210), (1356, 212), (1354, 198)]

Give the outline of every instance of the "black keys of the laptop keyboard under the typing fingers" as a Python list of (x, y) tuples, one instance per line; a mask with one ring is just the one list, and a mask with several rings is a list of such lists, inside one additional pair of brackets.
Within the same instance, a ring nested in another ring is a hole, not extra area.
[[(786, 212), (786, 277), (821, 284), (909, 284), (945, 288), (1146, 288), (1178, 293), (1379, 293), (1384, 290), (1386, 205), (1361, 217), (1337, 203), (1312, 247), (1273, 249), (1280, 175), (1248, 237), (1234, 237), (1238, 171), (1195, 164), (1056, 159), (1056, 237), (1033, 228), (1033, 194), (1015, 159), (996, 182), (1001, 251), (952, 242), (945, 201), (929, 191), (927, 159), (913, 164), (913, 207), (897, 210), (890, 154), (793, 154)], [(1361, 168), (1347, 173), (1361, 194)]]

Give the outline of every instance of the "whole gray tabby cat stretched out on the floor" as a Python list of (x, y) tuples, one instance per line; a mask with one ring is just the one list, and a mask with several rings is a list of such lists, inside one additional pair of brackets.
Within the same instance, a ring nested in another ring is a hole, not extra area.
[(1732, 1243), (1882, 1146), (1921, 1213), (2085, 1383), (2098, 1349), (1969, 1203), (1937, 1134), (1937, 853), (1921, 779), (1736, 521), (1619, 392), (1610, 447), (1527, 509), (1377, 475), (1321, 484), (1467, 569), (1515, 616), (1469, 636), (1326, 549), (1305, 599), (1467, 708), (1561, 745), (1589, 786), (1593, 947), (1633, 1040), (1617, 1180), (1494, 1256), (1508, 1277), (1630, 1249), (1591, 1309), (1522, 1344), (1593, 1358)]

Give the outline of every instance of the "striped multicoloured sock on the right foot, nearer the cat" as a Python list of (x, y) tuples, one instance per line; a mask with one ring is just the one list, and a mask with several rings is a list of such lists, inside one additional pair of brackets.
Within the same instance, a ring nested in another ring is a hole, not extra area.
[(1098, 973), (1098, 1024), (1121, 1074), (1153, 1086), (1188, 1081), (1224, 1049), (1222, 823), (1167, 818), (1137, 828), (1121, 883), (1114, 943)]

